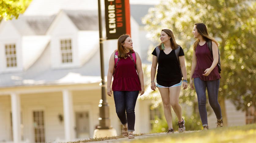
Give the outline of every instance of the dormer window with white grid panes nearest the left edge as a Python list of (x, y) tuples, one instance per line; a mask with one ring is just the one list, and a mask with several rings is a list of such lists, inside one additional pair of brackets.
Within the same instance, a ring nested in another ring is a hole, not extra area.
[(17, 67), (15, 44), (6, 44), (5, 45), (5, 56), (6, 56), (6, 67), (7, 68)]

